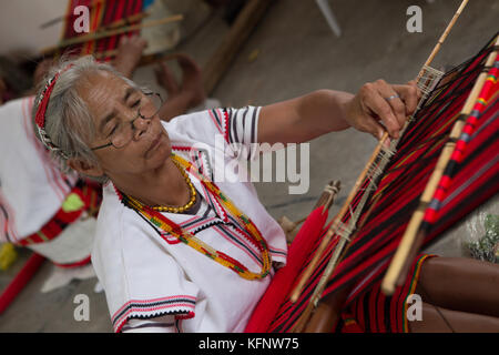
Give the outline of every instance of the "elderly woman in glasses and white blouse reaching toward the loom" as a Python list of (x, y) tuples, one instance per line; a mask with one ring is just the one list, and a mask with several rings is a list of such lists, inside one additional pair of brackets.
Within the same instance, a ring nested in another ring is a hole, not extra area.
[(397, 138), (417, 101), (414, 83), (380, 80), (357, 95), (320, 90), (162, 122), (156, 95), (88, 57), (52, 73), (33, 112), (67, 166), (104, 182), (92, 262), (114, 329), (241, 332), (287, 247), (253, 185), (234, 179), (240, 152), (350, 126)]

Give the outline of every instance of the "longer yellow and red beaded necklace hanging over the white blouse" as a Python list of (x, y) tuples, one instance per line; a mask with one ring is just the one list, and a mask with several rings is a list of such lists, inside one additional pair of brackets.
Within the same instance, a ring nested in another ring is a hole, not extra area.
[[(258, 251), (262, 254), (262, 270), (259, 273), (251, 272), (246, 266), (244, 266), (242, 263), (236, 261), (235, 258), (228, 256), (225, 253), (222, 253), (220, 251), (214, 250), (212, 246), (207, 245), (200, 239), (197, 239), (194, 234), (185, 231), (182, 229), (179, 224), (171, 221), (166, 216), (160, 213), (160, 211), (155, 210), (154, 207), (144, 205), (143, 203), (139, 202), (135, 199), (132, 199), (124, 193), (119, 192), (122, 196), (123, 203), (135, 210), (138, 213), (140, 213), (142, 216), (144, 216), (149, 222), (151, 222), (156, 227), (163, 230), (167, 234), (174, 236), (179, 242), (182, 242), (192, 248), (196, 250), (197, 252), (204, 254), (205, 256), (212, 258), (216, 263), (228, 267), (230, 270), (237, 273), (243, 278), (246, 280), (259, 280), (264, 278), (268, 275), (271, 267), (272, 267), (272, 261), (271, 255), (268, 252), (267, 243), (262, 236), (262, 233), (258, 231), (256, 225), (253, 223), (253, 221), (247, 217), (244, 213), (242, 213), (234, 203), (222, 193), (222, 191), (213, 183), (212, 181), (207, 180), (206, 178), (202, 176), (196, 169), (193, 166), (193, 164), (189, 161), (185, 161), (181, 156), (176, 154), (172, 154), (172, 159), (177, 164), (179, 168), (183, 168), (183, 170), (191, 171), (200, 181), (201, 183), (213, 193), (215, 199), (225, 206), (225, 209), (242, 224), (244, 225), (245, 230), (247, 231), (247, 234), (251, 237), (247, 237), (247, 240), (255, 245)], [(181, 169), (182, 171), (182, 169)], [(186, 172), (183, 171), (183, 173), (186, 175)], [(189, 179), (189, 176), (187, 176)], [(192, 184), (192, 183), (191, 183)], [(163, 234), (160, 234), (163, 240), (165, 240), (167, 243), (171, 243)]]

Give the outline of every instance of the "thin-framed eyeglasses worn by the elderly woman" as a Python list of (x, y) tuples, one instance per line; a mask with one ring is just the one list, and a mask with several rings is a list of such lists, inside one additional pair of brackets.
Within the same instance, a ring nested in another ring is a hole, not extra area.
[[(124, 122), (124, 121), (119, 121), (119, 123), (116, 124), (116, 126), (113, 128), (113, 131), (111, 133), (111, 142), (103, 144), (103, 145), (99, 145), (99, 146), (94, 146), (91, 148), (92, 151), (95, 151), (98, 149), (103, 149), (103, 148), (108, 148), (108, 146), (114, 146), (115, 149), (121, 149), (123, 146), (125, 146), (126, 144), (129, 144), (132, 139), (133, 135), (135, 133), (135, 120), (141, 118), (142, 120), (152, 120), (159, 112), (161, 106), (163, 105), (163, 99), (161, 98), (161, 95), (156, 92), (144, 92), (144, 95), (147, 97), (149, 100), (141, 100), (136, 115), (134, 116), (133, 120)], [(145, 103), (144, 103), (145, 101)], [(145, 111), (153, 111), (154, 113), (145, 116), (142, 114), (141, 110)]]

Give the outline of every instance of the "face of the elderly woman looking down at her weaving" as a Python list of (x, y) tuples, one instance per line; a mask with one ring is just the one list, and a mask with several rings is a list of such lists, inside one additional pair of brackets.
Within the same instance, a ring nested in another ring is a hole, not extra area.
[[(95, 134), (90, 148), (108, 144), (120, 126), (131, 128), (130, 121), (141, 114), (150, 118), (156, 112), (152, 101), (121, 78), (105, 71), (88, 77), (79, 93), (93, 116)], [(124, 146), (94, 150), (102, 173), (113, 180), (119, 175), (140, 175), (164, 164), (171, 154), (169, 135), (155, 114), (150, 120), (138, 118), (131, 140)], [(88, 172), (86, 172), (88, 173)]]

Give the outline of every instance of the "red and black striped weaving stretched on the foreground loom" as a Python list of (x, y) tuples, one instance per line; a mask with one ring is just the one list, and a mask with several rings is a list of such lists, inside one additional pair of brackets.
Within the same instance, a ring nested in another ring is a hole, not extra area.
[[(393, 256), (419, 204), (450, 130), (456, 120), (460, 119), (462, 105), (491, 50), (491, 45), (486, 47), (470, 61), (449, 72), (417, 114), (400, 140), (397, 153), (380, 179), (377, 191), (369, 199), (367, 205), (370, 205), (370, 213), (366, 213), (364, 221), (360, 221), (363, 227), (354, 236), (325, 294), (345, 284), (358, 282)], [(448, 193), (456, 195), (456, 199), (449, 203), (438, 227), (429, 231), (424, 245), (428, 245), (499, 190), (498, 165), (490, 164), (493, 152), (497, 155), (497, 102), (490, 102), (489, 106), (487, 112), (491, 119), (482, 116), (483, 120), (480, 121), (496, 123), (488, 123), (473, 136), (473, 143), (467, 149), (467, 156), (470, 159), (464, 161), (460, 179), (456, 176), (448, 189)], [(470, 178), (473, 183), (468, 183)], [(376, 276), (381, 275), (385, 268), (377, 270)], [(368, 285), (369, 283), (365, 283), (364, 287), (358, 287), (357, 293)]]

